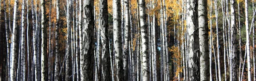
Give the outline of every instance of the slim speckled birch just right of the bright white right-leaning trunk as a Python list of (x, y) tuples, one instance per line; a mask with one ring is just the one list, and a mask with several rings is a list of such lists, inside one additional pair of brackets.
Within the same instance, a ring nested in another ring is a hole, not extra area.
[(26, 53), (26, 48), (25, 48), (25, 0), (22, 0), (22, 13), (21, 13), (21, 60), (20, 60), (20, 80), (25, 81), (26, 75), (26, 63), (25, 63), (25, 53)]

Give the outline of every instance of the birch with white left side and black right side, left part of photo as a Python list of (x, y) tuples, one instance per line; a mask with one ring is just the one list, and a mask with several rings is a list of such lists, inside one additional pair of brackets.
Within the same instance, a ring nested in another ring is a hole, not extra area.
[(46, 27), (46, 15), (45, 15), (45, 0), (41, 0), (41, 81), (47, 81), (48, 79), (48, 67), (47, 67), (47, 27)]

